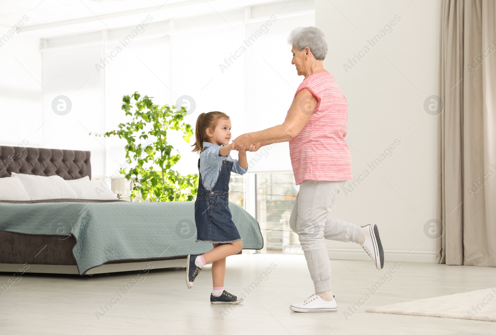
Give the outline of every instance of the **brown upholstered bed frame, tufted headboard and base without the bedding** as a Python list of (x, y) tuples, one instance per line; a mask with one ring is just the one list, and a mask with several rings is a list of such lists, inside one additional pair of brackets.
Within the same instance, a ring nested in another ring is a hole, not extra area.
[[(65, 180), (89, 176), (91, 179), (91, 152), (31, 147), (0, 146), (0, 178), (12, 172), (37, 176), (61, 176)], [(1, 215), (1, 214), (0, 214)], [(74, 236), (31, 235), (0, 232), (0, 272), (18, 272), (29, 264), (25, 272), (77, 274), (77, 263), (72, 254)], [(105, 262), (88, 269), (84, 274), (136, 271), (185, 267), (187, 255), (146, 259), (125, 259)]]

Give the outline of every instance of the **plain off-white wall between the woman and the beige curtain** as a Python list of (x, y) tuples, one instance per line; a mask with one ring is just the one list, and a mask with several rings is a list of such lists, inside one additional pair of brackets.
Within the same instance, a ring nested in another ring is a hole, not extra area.
[[(368, 40), (396, 15), (392, 32), (372, 47)], [(371, 172), (357, 187), (343, 188), (330, 215), (376, 223), (386, 260), (434, 262), (435, 240), (424, 225), (436, 218), (438, 117), (423, 104), (439, 94), (440, 1), (315, 0), (315, 25), (329, 48), (324, 68), (348, 101), (354, 177)], [(343, 64), (365, 46), (370, 51), (346, 71)], [(367, 164), (395, 139), (401, 144), (372, 171)], [(331, 258), (369, 257), (355, 243), (328, 246)]]

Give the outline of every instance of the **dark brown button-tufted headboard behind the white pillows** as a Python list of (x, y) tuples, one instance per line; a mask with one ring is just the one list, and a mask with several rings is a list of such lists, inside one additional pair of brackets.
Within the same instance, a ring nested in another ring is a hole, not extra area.
[(0, 145), (0, 178), (11, 172), (37, 176), (61, 176), (65, 180), (89, 176), (90, 151), (28, 148)]

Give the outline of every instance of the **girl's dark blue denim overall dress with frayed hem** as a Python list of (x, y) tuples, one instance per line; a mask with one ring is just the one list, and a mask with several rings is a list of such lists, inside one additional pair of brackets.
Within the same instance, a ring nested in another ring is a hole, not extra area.
[(198, 158), (198, 194), (194, 202), (196, 241), (231, 243), (240, 240), (240, 233), (234, 225), (229, 204), (229, 180), (233, 162), (222, 161), (222, 168), (211, 191), (203, 187), (200, 159)]

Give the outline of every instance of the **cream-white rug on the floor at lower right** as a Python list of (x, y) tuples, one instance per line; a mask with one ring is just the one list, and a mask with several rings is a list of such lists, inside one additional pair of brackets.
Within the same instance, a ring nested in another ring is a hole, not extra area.
[(371, 307), (366, 312), (496, 322), (496, 287)]

